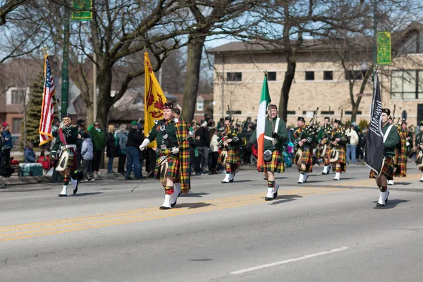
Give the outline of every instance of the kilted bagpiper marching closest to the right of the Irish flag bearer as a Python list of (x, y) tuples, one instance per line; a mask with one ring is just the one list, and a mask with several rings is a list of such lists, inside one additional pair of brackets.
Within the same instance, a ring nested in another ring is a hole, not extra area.
[(312, 146), (315, 143), (316, 137), (306, 132), (307, 125), (305, 125), (305, 119), (302, 116), (297, 118), (297, 125), (298, 127), (294, 129), (293, 133), (295, 138), (294, 162), (297, 164), (298, 171), (300, 171), (298, 183), (305, 183), (307, 182), (308, 173), (313, 171)]

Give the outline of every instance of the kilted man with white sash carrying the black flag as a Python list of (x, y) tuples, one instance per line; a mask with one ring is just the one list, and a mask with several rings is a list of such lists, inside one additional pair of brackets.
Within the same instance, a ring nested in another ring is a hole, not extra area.
[(370, 178), (376, 178), (376, 185), (381, 190), (376, 207), (384, 207), (385, 203), (388, 202), (388, 179), (393, 177), (393, 158), (395, 157), (395, 148), (400, 141), (400, 136), (398, 135), (396, 126), (388, 122), (388, 117), (390, 114), (391, 110), (382, 109), (382, 132), (384, 133), (384, 166), (381, 169), (379, 176), (376, 176), (374, 171), (370, 172)]

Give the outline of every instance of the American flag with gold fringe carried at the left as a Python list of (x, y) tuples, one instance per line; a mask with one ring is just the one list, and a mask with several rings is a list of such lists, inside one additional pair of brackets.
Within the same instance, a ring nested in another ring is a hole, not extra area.
[(49, 57), (45, 56), (44, 63), (44, 92), (42, 94), (41, 121), (39, 121), (39, 145), (50, 142), (53, 139), (51, 135), (51, 123), (54, 118), (54, 81), (51, 76)]

